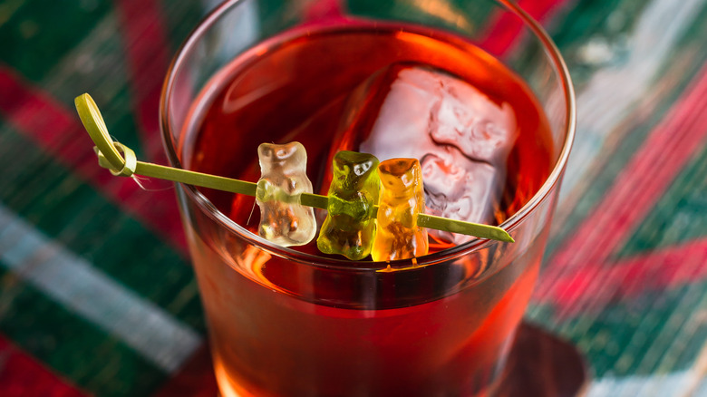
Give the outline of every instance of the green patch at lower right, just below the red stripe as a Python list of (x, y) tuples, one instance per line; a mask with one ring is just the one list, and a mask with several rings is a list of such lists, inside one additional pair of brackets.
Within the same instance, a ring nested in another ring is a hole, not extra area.
[(585, 353), (597, 378), (690, 368), (707, 337), (707, 323), (700, 320), (707, 282), (661, 294), (660, 300), (646, 293), (627, 304), (606, 306), (556, 331)]

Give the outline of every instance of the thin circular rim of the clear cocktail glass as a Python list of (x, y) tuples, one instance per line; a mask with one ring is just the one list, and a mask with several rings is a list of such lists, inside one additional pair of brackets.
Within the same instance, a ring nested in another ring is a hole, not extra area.
[[(183, 44), (179, 46), (177, 54), (172, 59), (169, 64), (169, 69), (167, 71), (167, 77), (162, 86), (162, 91), (160, 93), (160, 130), (162, 136), (162, 143), (166, 151), (167, 158), (169, 162), (178, 168), (183, 168), (181, 162), (179, 161), (179, 156), (177, 151), (172, 145), (172, 134), (169, 124), (169, 98), (173, 91), (173, 86), (175, 83), (175, 77), (178, 75), (180, 66), (184, 63), (184, 59), (191, 53), (194, 49), (199, 39), (208, 31), (208, 29), (216, 24), (222, 15), (234, 6), (245, 2), (246, 0), (228, 0), (221, 5), (214, 8), (208, 15), (206, 15), (197, 27), (189, 34), (188, 38)], [(552, 41), (550, 36), (547, 34), (545, 29), (528, 13), (526, 13), (522, 8), (520, 8), (515, 2), (510, 0), (490, 0), (497, 3), (500, 6), (505, 6), (508, 11), (517, 15), (523, 22), (525, 27), (527, 27), (532, 34), (540, 41), (543, 48), (546, 50), (547, 58), (550, 63), (554, 66), (559, 81), (561, 83), (561, 88), (564, 93), (564, 99), (567, 103), (566, 109), (566, 123), (564, 126), (565, 139), (560, 150), (559, 157), (555, 163), (554, 168), (547, 176), (545, 182), (538, 191), (533, 195), (528, 202), (520, 208), (515, 214), (508, 217), (503, 223), (499, 225), (499, 228), (504, 228), (508, 233), (512, 232), (515, 228), (518, 228), (522, 224), (523, 219), (528, 217), (528, 215), (535, 209), (538, 208), (540, 203), (547, 199), (554, 186), (559, 183), (560, 177), (567, 164), (567, 159), (569, 157), (570, 150), (572, 148), (572, 143), (575, 138), (576, 131), (576, 98), (575, 90), (572, 85), (571, 77), (567, 69), (567, 64), (562, 57), (557, 45)], [(442, 249), (439, 252), (433, 254), (428, 254), (423, 257), (416, 257), (410, 259), (401, 259), (394, 261), (353, 261), (345, 258), (333, 258), (333, 257), (320, 257), (317, 255), (306, 254), (300, 251), (296, 251), (290, 247), (281, 247), (270, 241), (267, 241), (263, 237), (259, 237), (256, 234), (250, 232), (246, 228), (238, 225), (235, 221), (228, 218), (226, 214), (221, 212), (216, 206), (211, 203), (211, 201), (204, 196), (195, 186), (186, 185), (179, 183), (180, 189), (182, 189), (188, 196), (189, 200), (193, 200), (197, 203), (199, 209), (203, 210), (209, 218), (212, 218), (220, 228), (226, 228), (228, 232), (236, 234), (238, 237), (243, 238), (247, 244), (252, 244), (271, 255), (277, 257), (283, 257), (289, 261), (308, 265), (308, 266), (318, 266), (339, 269), (344, 271), (380, 271), (383, 269), (409, 269), (409, 268), (420, 268), (422, 266), (431, 266), (442, 262), (447, 262), (452, 259), (468, 255), (472, 251), (479, 251), (484, 247), (488, 247), (492, 244), (499, 244), (499, 241), (487, 240), (474, 238), (464, 244), (459, 246), (450, 247)], [(509, 243), (511, 244), (511, 243)], [(512, 243), (519, 244), (519, 243)]]

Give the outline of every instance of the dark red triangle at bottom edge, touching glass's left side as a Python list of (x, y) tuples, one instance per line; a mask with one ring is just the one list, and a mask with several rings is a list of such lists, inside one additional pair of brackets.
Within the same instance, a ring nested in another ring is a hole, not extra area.
[(194, 353), (179, 373), (166, 382), (154, 397), (213, 397), (218, 395), (218, 385), (214, 377), (208, 346), (202, 346)]

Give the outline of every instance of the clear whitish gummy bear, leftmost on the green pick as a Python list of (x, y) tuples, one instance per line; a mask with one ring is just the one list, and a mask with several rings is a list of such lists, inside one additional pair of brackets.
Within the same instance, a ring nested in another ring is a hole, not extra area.
[(257, 157), (261, 172), (256, 190), (258, 234), (284, 247), (309, 243), (316, 233), (315, 210), (299, 203), (302, 193), (312, 193), (305, 147), (299, 142), (262, 143)]

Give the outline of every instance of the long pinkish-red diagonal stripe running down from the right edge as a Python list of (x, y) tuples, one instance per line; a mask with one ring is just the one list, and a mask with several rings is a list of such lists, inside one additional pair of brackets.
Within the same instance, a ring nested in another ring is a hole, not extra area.
[[(676, 102), (616, 177), (573, 237), (550, 258), (536, 296), (544, 299), (563, 274), (593, 279), (592, 264), (605, 263), (647, 216), (684, 165), (707, 138), (707, 67), (692, 89)], [(581, 270), (589, 265), (586, 271)], [(561, 305), (561, 303), (558, 302)]]

